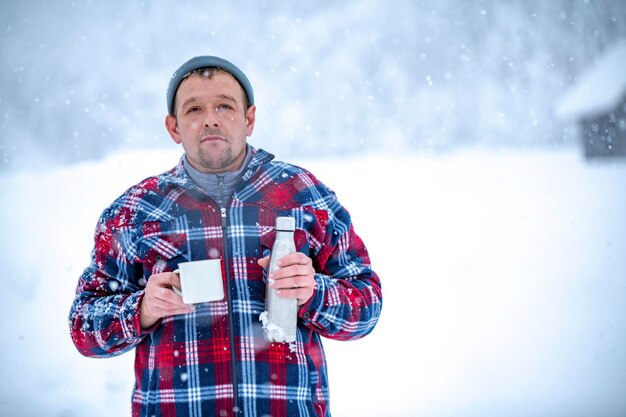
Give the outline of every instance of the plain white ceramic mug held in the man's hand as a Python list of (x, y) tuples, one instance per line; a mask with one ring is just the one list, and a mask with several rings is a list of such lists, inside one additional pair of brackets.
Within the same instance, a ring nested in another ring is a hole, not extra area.
[(219, 259), (181, 262), (174, 273), (180, 276), (181, 288), (172, 289), (183, 297), (185, 304), (206, 303), (224, 298)]

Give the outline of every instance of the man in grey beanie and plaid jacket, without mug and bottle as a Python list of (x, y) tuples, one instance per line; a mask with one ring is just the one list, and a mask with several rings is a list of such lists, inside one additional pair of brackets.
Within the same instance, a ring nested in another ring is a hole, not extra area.
[[(348, 212), (306, 170), (247, 144), (248, 78), (195, 57), (169, 84), (168, 133), (184, 155), (102, 214), (79, 279), (70, 330), (86, 356), (135, 348), (133, 416), (330, 416), (321, 337), (357, 339), (380, 315), (380, 281)], [(298, 252), (269, 277), (277, 216)], [(188, 306), (181, 262), (220, 259), (223, 300)], [(294, 343), (269, 343), (266, 282), (297, 299)]]

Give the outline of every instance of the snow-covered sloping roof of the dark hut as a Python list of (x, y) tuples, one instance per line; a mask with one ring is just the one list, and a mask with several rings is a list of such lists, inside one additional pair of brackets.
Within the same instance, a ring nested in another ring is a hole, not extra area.
[(613, 45), (556, 102), (560, 118), (608, 112), (626, 94), (626, 40)]

